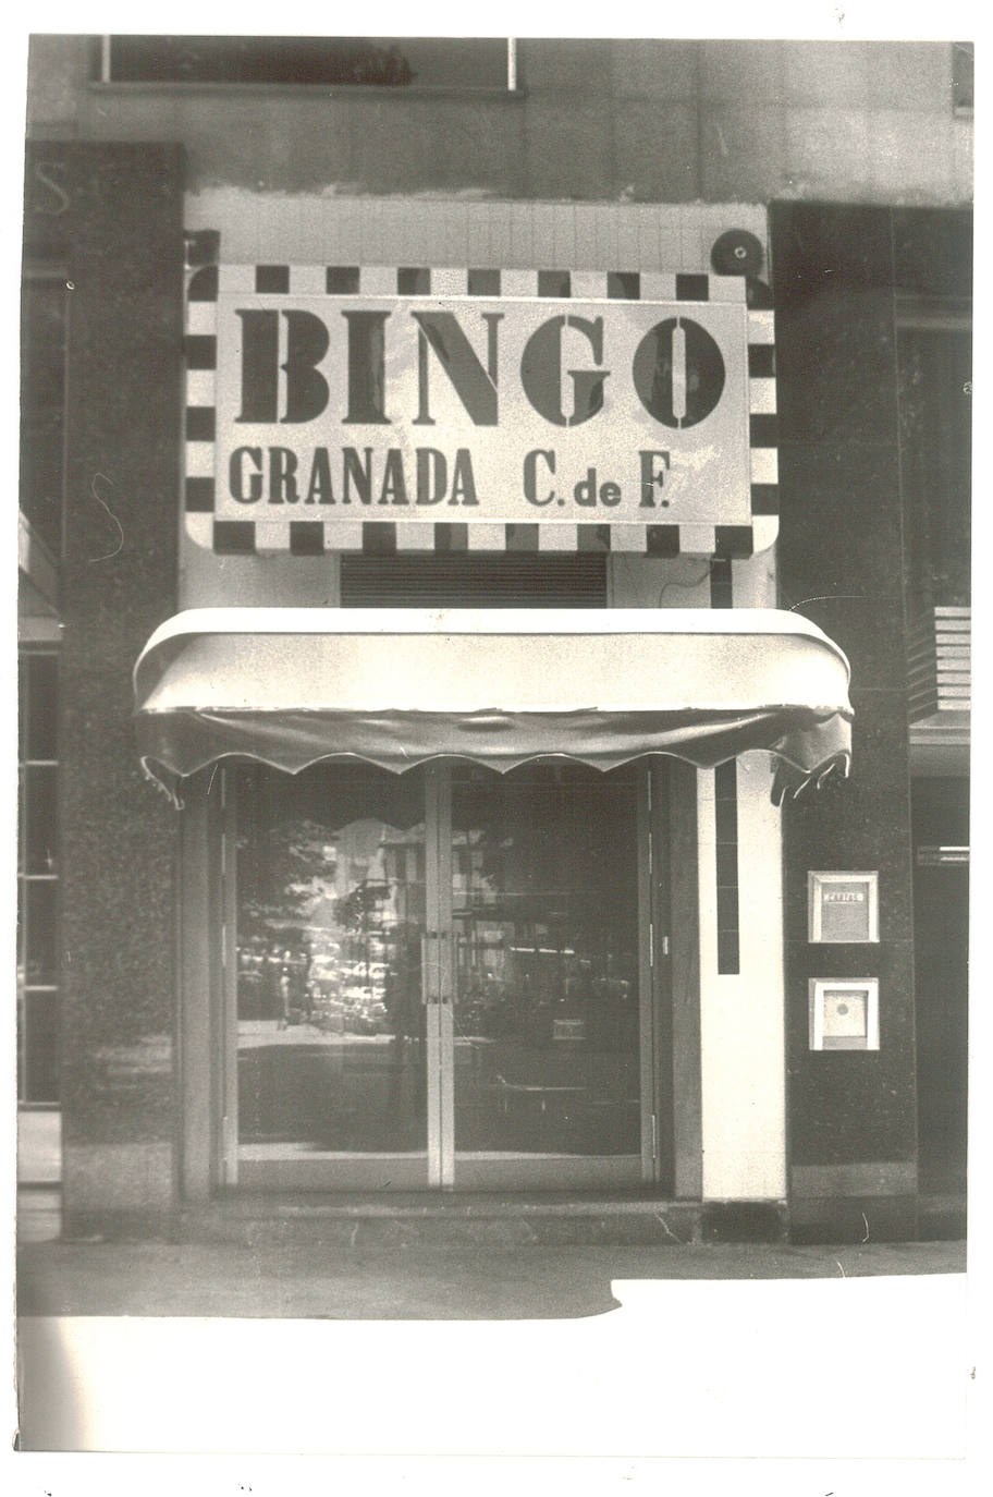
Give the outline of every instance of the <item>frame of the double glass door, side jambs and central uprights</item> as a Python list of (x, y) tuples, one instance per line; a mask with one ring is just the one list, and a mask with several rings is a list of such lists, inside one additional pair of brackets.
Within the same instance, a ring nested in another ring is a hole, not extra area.
[[(698, 1007), (688, 993), (673, 1013), (673, 868), (671, 822), (683, 820), (670, 811), (677, 760), (662, 756), (639, 762), (637, 783), (637, 921), (639, 921), (639, 1049), (640, 1049), (640, 1181), (627, 1180), (627, 1189), (657, 1187), (665, 1195), (694, 1195), (694, 1136), (698, 1138), (698, 1088), (694, 1103), (692, 1072), (698, 1075), (698, 1040), (692, 1055), (692, 1021), (686, 1013)], [(695, 772), (689, 765), (682, 771)], [(473, 1163), (479, 1156), (455, 1150), (455, 949), (452, 921), (452, 765), (432, 760), (425, 765), (425, 894), (428, 928), (423, 939), (426, 1009), (426, 1175), (423, 1186), (434, 1190), (508, 1189), (499, 1171)], [(236, 828), (238, 796), (235, 777), (226, 765), (203, 771), (190, 784), (184, 810), (184, 855), (181, 861), (182, 912), (182, 994), (179, 1003), (182, 1081), (182, 1190), (187, 1199), (202, 1199), (212, 1189), (239, 1184), (238, 1168), (238, 998), (236, 998)], [(682, 787), (685, 790), (685, 786)], [(682, 793), (682, 792), (680, 792)], [(695, 802), (695, 795), (694, 795)], [(683, 828), (686, 831), (688, 828)], [(692, 876), (695, 883), (695, 856)], [(679, 880), (679, 882), (685, 882)], [(685, 889), (695, 897), (695, 889)], [(685, 900), (682, 901), (686, 903)], [(203, 919), (206, 910), (206, 921)], [(434, 922), (432, 922), (434, 912)], [(211, 934), (212, 933), (212, 934)], [(685, 931), (689, 942), (697, 933)], [(680, 943), (682, 945), (682, 943)], [(695, 949), (685, 952), (679, 966), (698, 970)], [(206, 981), (203, 981), (206, 979)], [(196, 993), (202, 996), (197, 1001)], [(209, 1012), (203, 1000), (209, 1003)], [(680, 1034), (682, 1030), (682, 1034)], [(182, 1043), (184, 1033), (188, 1036)], [(697, 1019), (698, 1034), (698, 1019)], [(686, 1049), (689, 1040), (689, 1051)], [(200, 1046), (212, 1055), (205, 1064)], [(676, 1064), (674, 1048), (689, 1063), (689, 1091), (677, 1082), (683, 1069)], [(199, 1054), (197, 1054), (199, 1052)], [(209, 1075), (208, 1075), (209, 1072)], [(214, 1127), (203, 1126), (212, 1114)], [(694, 1123), (695, 1114), (695, 1123)], [(695, 1150), (698, 1153), (698, 1147)], [(371, 1156), (375, 1157), (375, 1156)], [(414, 1156), (417, 1160), (422, 1156)], [(606, 1156), (534, 1156), (531, 1180), (522, 1189), (618, 1189), (618, 1180), (592, 1177), (594, 1160)], [(630, 1156), (618, 1156), (628, 1160)], [(329, 1174), (333, 1166), (329, 1166)], [(698, 1160), (695, 1163), (698, 1172)], [(278, 1172), (278, 1171), (275, 1171)], [(559, 1175), (556, 1181), (555, 1175)], [(526, 1172), (525, 1172), (526, 1174)], [(609, 1177), (610, 1171), (603, 1171)], [(464, 1178), (459, 1178), (462, 1175)], [(467, 1180), (465, 1177), (473, 1177)], [(683, 1189), (679, 1189), (682, 1180)], [(244, 1183), (244, 1181), (242, 1181)], [(254, 1183), (253, 1183), (254, 1184)], [(398, 1184), (401, 1184), (398, 1181)], [(411, 1186), (410, 1178), (402, 1181)], [(689, 1190), (686, 1190), (689, 1184)], [(274, 1189), (277, 1183), (274, 1183)], [(354, 1189), (354, 1181), (332, 1181), (326, 1187)], [(420, 1189), (420, 1187), (419, 1187)]]

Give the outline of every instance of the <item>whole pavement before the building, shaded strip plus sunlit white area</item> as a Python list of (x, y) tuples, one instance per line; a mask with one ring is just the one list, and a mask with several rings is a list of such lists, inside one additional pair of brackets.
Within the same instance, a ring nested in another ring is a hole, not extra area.
[[(570, 1490), (588, 1457), (624, 1458), (627, 1481), (634, 1457), (680, 1472), (701, 1454), (748, 1472), (788, 1458), (796, 1479), (836, 1455), (872, 1461), (851, 1493), (872, 1497), (881, 1461), (899, 1461), (908, 1491), (908, 1457), (953, 1491), (966, 1449), (977, 1355), (960, 1241), (360, 1246), (308, 1225), (67, 1241), (58, 1193), (39, 1189), (21, 1193), (18, 1225), (16, 1448), (31, 1461), (238, 1452), (244, 1493), (262, 1490), (245, 1452), (386, 1460), (362, 1491), (395, 1482), (398, 1460), (540, 1458), (546, 1491), (547, 1457), (564, 1454)], [(505, 1466), (489, 1490), (516, 1481)], [(227, 1490), (208, 1470), (203, 1491)], [(274, 1470), (269, 1490), (286, 1491)], [(27, 1476), (40, 1490), (36, 1466)]]

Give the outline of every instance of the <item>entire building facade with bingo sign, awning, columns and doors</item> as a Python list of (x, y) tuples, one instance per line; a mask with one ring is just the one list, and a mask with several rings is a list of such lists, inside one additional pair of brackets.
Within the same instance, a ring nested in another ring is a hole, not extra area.
[(966, 61), (34, 39), (21, 1087), (66, 1232), (957, 1229)]

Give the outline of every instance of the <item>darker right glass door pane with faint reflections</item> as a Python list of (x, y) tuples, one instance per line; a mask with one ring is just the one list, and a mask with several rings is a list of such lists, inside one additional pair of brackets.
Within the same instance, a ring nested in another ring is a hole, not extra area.
[(458, 1186), (642, 1178), (634, 772), (452, 771)]

